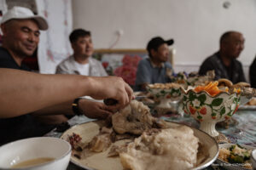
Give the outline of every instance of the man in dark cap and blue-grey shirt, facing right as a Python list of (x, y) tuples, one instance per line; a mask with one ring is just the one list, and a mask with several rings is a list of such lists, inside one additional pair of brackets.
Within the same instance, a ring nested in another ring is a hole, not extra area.
[(162, 37), (152, 38), (147, 45), (149, 58), (142, 59), (137, 66), (135, 91), (144, 91), (151, 83), (172, 82), (170, 76), (174, 73), (168, 62), (169, 48), (173, 40), (165, 41)]

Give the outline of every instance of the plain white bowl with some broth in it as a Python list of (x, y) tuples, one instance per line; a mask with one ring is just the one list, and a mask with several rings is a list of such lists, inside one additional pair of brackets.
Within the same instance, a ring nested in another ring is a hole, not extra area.
[[(0, 147), (0, 169), (64, 170), (71, 150), (71, 145), (63, 139), (38, 137), (17, 140)], [(45, 157), (54, 160), (30, 167), (13, 167), (20, 162)]]

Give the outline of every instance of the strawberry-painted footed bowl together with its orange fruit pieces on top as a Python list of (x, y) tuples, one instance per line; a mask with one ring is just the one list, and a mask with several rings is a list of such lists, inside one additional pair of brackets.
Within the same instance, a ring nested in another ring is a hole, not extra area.
[(253, 88), (218, 88), (218, 83), (209, 82), (188, 90), (181, 88), (183, 111), (201, 122), (200, 129), (212, 137), (219, 134), (216, 123), (230, 119), (239, 105), (255, 94)]

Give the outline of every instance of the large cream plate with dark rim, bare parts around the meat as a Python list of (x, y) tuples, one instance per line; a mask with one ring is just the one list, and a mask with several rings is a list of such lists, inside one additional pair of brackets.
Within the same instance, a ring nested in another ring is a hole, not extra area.
[[(167, 122), (170, 127), (177, 127), (180, 124), (176, 122)], [(103, 126), (102, 121), (96, 122), (86, 122), (83, 124), (76, 125), (67, 129), (65, 133), (61, 135), (61, 139), (67, 139), (68, 135), (72, 133), (77, 133), (81, 136), (82, 142), (89, 142), (97, 133), (99, 133), (100, 127)], [(185, 126), (185, 125), (184, 125)], [(194, 130), (195, 136), (203, 144), (203, 155), (201, 157), (202, 162), (197, 165), (194, 170), (203, 169), (208, 167), (215, 161), (218, 157), (218, 144), (216, 141), (207, 133), (201, 130), (192, 128)], [(118, 141), (119, 142), (119, 141)], [(110, 146), (111, 147), (111, 146)], [(109, 147), (109, 148), (110, 148)], [(89, 156), (84, 160), (79, 160), (75, 156), (71, 156), (71, 161), (78, 165), (79, 167), (84, 167), (86, 169), (97, 169), (97, 170), (123, 170), (119, 157), (108, 157), (108, 150), (96, 153), (93, 156)], [(198, 160), (199, 161), (199, 160)]]

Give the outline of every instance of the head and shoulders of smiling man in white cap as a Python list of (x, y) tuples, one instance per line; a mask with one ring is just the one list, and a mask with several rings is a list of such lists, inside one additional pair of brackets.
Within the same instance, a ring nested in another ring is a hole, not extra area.
[(39, 30), (47, 29), (47, 21), (33, 14), (29, 8), (9, 9), (1, 20), (3, 45), (0, 48), (0, 67), (28, 71), (21, 62), (38, 48)]

